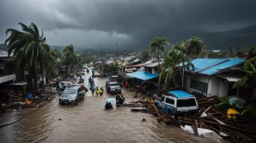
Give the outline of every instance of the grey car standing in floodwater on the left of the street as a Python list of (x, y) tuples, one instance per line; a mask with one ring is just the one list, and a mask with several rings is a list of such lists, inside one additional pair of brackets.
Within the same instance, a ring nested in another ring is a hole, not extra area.
[(83, 89), (80, 86), (66, 87), (60, 95), (59, 104), (77, 103), (84, 98)]

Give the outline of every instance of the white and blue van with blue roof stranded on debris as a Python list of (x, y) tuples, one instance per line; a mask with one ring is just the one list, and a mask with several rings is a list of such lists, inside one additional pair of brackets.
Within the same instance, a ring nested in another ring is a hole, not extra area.
[(167, 114), (198, 113), (199, 107), (195, 96), (183, 90), (170, 90), (155, 104)]

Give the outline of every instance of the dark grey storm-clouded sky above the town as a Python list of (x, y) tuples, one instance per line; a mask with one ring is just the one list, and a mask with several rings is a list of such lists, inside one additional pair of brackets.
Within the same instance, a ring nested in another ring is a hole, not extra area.
[(154, 36), (177, 43), (200, 36), (207, 47), (256, 44), (256, 0), (1, 0), (0, 43), (7, 28), (37, 24), (48, 44), (125, 50)]

